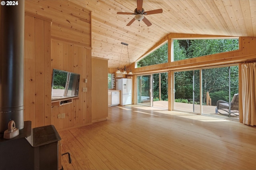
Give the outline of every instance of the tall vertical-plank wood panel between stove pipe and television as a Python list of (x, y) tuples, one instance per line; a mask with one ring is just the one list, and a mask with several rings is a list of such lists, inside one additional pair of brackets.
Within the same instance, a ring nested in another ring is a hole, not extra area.
[(25, 15), (24, 121), (51, 125), (50, 21)]

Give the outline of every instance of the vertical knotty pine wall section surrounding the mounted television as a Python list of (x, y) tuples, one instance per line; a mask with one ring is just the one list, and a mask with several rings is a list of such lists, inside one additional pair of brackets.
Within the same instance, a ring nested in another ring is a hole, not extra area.
[[(52, 125), (56, 129), (77, 127), (91, 122), (91, 112), (87, 109), (91, 105), (91, 92), (82, 92), (83, 88), (90, 89), (91, 76), (87, 74), (87, 69), (91, 67), (90, 51), (86, 47), (52, 39), (52, 69), (80, 74), (79, 98), (67, 105), (52, 106)], [(88, 83), (85, 83), (84, 79), (87, 79)], [(62, 113), (65, 118), (58, 119), (58, 114)]]

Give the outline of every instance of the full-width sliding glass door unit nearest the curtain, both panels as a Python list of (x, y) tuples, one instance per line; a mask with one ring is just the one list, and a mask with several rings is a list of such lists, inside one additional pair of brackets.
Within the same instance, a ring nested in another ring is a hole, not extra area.
[(174, 100), (177, 111), (238, 119), (238, 66), (175, 72)]

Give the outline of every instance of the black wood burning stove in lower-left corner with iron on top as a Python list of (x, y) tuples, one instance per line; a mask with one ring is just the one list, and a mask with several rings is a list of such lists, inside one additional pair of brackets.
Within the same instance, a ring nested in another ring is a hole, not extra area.
[(0, 169), (58, 170), (60, 140), (53, 125), (31, 129), (31, 121), (25, 121), (18, 136), (0, 134)]

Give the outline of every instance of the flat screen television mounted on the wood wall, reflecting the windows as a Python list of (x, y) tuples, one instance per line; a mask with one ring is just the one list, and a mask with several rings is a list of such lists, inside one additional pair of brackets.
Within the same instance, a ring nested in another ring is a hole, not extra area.
[(53, 69), (52, 101), (78, 97), (80, 74)]

